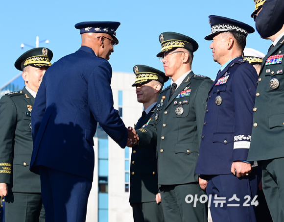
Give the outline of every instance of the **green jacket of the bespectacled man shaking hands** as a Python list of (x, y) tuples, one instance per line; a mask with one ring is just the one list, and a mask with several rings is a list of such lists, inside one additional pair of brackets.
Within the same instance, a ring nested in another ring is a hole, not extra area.
[(198, 182), (194, 171), (212, 83), (191, 71), (170, 99), (170, 87), (161, 92), (151, 121), (136, 130), (137, 148), (157, 141), (159, 185)]

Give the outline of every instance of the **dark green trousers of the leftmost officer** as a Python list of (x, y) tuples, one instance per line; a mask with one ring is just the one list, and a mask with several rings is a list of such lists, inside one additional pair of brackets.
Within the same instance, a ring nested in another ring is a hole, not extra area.
[(5, 197), (5, 222), (45, 222), (41, 194), (10, 191)]

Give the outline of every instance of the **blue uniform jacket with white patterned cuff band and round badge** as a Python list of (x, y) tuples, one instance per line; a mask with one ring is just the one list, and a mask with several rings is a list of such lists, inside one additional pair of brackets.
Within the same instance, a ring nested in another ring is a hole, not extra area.
[(257, 79), (255, 68), (241, 56), (215, 79), (208, 94), (195, 173), (230, 174), (233, 161), (247, 159)]

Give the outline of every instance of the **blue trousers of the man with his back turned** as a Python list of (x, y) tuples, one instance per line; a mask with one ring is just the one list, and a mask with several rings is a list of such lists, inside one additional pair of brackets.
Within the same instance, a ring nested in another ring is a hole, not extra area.
[(46, 222), (85, 222), (92, 181), (46, 167), (40, 176)]

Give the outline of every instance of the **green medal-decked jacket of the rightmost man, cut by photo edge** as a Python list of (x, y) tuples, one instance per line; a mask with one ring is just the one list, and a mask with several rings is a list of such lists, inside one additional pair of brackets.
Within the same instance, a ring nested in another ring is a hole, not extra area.
[(263, 58), (248, 161), (284, 157), (284, 37)]

